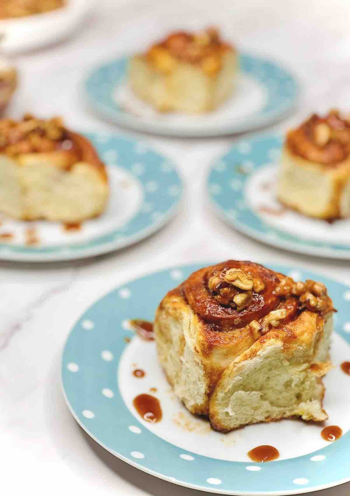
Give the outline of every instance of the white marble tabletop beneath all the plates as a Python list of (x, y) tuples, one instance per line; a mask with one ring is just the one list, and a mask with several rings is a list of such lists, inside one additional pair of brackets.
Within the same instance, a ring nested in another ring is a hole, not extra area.
[[(98, 3), (99, 11), (75, 38), (17, 57), (21, 87), (9, 114), (59, 113), (75, 127), (110, 130), (82, 102), (78, 83), (84, 71), (91, 63), (142, 45), (147, 30), (174, 18), (178, 26), (188, 19), (222, 24), (241, 47), (270, 54), (294, 69), (304, 89), (300, 105), (275, 128), (285, 129), (315, 109), (337, 105), (349, 109), (347, 0), (334, 1), (332, 7), (316, 0), (219, 0), (215, 5), (196, 0), (191, 7), (185, 1)], [(172, 264), (225, 258), (288, 263), (350, 283), (347, 261), (264, 246), (213, 216), (203, 195), (206, 170), (211, 159), (236, 138), (148, 139), (176, 160), (186, 185), (181, 211), (167, 227), (136, 246), (94, 259), (43, 265), (0, 262), (0, 487), (4, 494), (26, 494), (30, 489), (37, 495), (198, 494), (117, 460), (82, 432), (65, 406), (59, 362), (69, 328), (114, 286)], [(317, 495), (349, 492), (350, 484)]]

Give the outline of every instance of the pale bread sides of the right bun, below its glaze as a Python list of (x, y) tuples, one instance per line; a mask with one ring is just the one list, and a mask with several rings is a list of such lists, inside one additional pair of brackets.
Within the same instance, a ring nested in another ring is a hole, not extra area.
[(285, 205), (321, 219), (350, 215), (350, 159), (327, 167), (294, 155), (285, 145), (277, 183)]

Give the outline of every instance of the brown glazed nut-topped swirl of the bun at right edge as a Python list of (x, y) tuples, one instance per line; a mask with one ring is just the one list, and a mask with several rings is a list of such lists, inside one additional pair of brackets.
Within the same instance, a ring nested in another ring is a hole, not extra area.
[(334, 168), (350, 154), (350, 121), (338, 111), (325, 117), (313, 114), (288, 132), (286, 146), (296, 156)]

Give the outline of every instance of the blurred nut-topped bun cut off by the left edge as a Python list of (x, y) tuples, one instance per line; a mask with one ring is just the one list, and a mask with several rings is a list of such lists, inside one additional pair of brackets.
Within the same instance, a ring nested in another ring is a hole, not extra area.
[(94, 147), (59, 118), (0, 121), (0, 212), (81, 222), (104, 211), (108, 194), (106, 169)]

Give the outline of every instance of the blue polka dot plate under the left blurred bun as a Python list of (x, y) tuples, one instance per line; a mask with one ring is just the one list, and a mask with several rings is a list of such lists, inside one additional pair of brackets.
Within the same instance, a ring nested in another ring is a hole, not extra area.
[[(175, 214), (182, 184), (171, 160), (132, 138), (86, 136), (107, 166), (111, 193), (106, 211), (77, 230), (1, 218), (0, 259), (41, 262), (106, 253), (141, 241)], [(28, 243), (33, 230), (37, 245)]]

